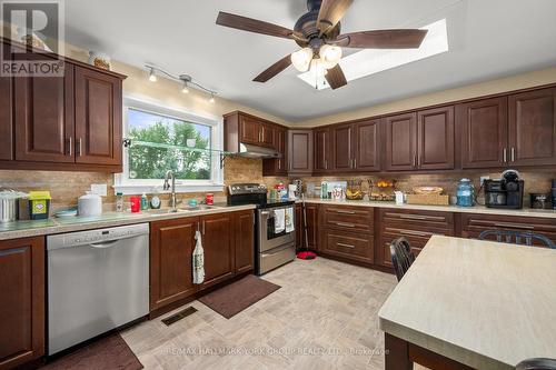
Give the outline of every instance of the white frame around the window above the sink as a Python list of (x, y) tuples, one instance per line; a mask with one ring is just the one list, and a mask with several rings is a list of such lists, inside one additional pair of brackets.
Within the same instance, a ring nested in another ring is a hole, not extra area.
[[(182, 109), (162, 106), (156, 102), (140, 100), (133, 97), (123, 98), (123, 138), (128, 137), (128, 109), (140, 110), (142, 112), (165, 116), (171, 119), (202, 124), (210, 127), (210, 147), (215, 150), (210, 163), (210, 180), (176, 180), (176, 192), (212, 192), (224, 190), (224, 170), (220, 168), (220, 156), (218, 151), (222, 150), (224, 143), (224, 119), (214, 116), (199, 116)], [(121, 192), (125, 196), (151, 193), (155, 188), (157, 192), (165, 193), (162, 190), (163, 180), (159, 179), (130, 179), (129, 178), (129, 149), (122, 148), (122, 173), (115, 174), (115, 192)]]

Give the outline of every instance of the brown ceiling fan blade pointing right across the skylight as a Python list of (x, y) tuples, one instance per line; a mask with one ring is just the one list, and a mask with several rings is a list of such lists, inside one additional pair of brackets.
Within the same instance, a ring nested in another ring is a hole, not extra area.
[(338, 36), (336, 44), (360, 49), (417, 49), (427, 30), (377, 30)]

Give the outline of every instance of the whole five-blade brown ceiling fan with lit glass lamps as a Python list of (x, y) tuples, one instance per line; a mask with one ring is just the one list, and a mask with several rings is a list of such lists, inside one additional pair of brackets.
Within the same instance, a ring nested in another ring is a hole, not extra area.
[(330, 88), (347, 84), (338, 62), (341, 48), (358, 49), (416, 49), (419, 48), (427, 30), (398, 29), (340, 33), (340, 20), (354, 0), (307, 0), (308, 12), (301, 16), (292, 30), (257, 19), (221, 11), (216, 23), (244, 31), (262, 33), (297, 42), (300, 50), (288, 54), (270, 66), (254, 81), (267, 82), (290, 64), (300, 72), (316, 69), (325, 74)]

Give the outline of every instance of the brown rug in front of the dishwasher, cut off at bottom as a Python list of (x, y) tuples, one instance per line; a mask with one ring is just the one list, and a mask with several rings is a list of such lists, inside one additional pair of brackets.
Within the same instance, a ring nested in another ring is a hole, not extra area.
[(47, 370), (139, 370), (141, 362), (120, 334), (99, 339), (41, 367)]

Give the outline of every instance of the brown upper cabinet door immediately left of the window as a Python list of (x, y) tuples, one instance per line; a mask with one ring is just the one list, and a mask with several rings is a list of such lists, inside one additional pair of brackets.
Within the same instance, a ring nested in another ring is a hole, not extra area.
[(121, 80), (76, 68), (76, 161), (121, 166)]

